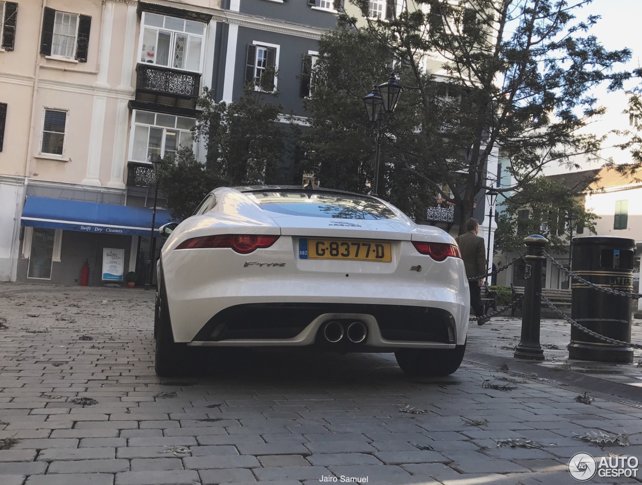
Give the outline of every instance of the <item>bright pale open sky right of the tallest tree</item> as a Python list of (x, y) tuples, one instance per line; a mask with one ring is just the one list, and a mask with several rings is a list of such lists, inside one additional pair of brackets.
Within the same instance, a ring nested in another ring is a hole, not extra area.
[[(609, 50), (629, 48), (633, 51), (629, 64), (626, 69), (632, 70), (642, 65), (642, 35), (640, 35), (640, 18), (642, 15), (641, 0), (594, 0), (593, 3), (578, 10), (578, 19), (584, 19), (587, 15), (601, 15), (602, 19), (591, 30), (596, 35), (603, 46)], [(627, 87), (630, 89), (635, 85), (641, 85), (642, 82), (631, 82)], [(627, 96), (623, 92), (607, 93), (606, 89), (596, 91), (598, 103), (607, 107), (607, 113), (603, 119), (591, 123), (590, 131), (595, 134), (606, 134), (612, 129), (627, 130), (629, 129), (629, 117), (622, 114), (627, 107)], [(609, 148), (614, 145), (617, 139), (611, 136), (607, 143), (604, 143), (602, 158), (612, 157), (616, 163), (627, 163), (630, 157), (627, 152), (619, 148)], [(593, 163), (583, 164), (583, 168), (598, 168), (601, 164)], [(553, 173), (568, 172), (568, 168), (562, 166), (550, 166), (544, 173), (551, 175)]]

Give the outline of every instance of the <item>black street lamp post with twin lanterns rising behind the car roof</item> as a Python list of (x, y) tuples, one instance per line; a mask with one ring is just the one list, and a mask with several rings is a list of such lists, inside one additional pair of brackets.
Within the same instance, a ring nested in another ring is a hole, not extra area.
[(386, 117), (392, 116), (397, 106), (399, 94), (403, 87), (397, 81), (395, 71), (392, 71), (388, 82), (379, 84), (372, 89), (372, 93), (363, 96), (368, 119), (377, 123), (377, 139), (375, 141), (374, 155), (374, 181), (372, 182), (372, 195), (377, 197), (379, 191), (379, 160), (381, 159), (381, 138), (383, 137), (383, 128), (385, 128)]

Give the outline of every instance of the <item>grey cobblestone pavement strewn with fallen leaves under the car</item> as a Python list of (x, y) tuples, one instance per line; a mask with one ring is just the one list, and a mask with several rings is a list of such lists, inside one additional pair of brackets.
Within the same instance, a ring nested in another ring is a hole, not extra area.
[[(562, 485), (576, 483), (577, 452), (642, 459), (642, 405), (585, 404), (567, 383), (469, 359), (452, 376), (411, 379), (388, 354), (236, 349), (160, 379), (152, 301), (139, 289), (0, 284), (0, 485)], [(499, 337), (517, 329), (474, 326), (471, 355), (510, 360)], [(631, 446), (574, 437), (587, 432), (626, 432)], [(498, 446), (509, 438), (539, 446)]]

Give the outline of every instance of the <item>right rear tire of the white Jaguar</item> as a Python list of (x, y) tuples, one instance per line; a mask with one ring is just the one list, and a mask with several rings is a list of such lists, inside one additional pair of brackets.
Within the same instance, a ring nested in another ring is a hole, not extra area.
[(454, 349), (399, 349), (397, 364), (408, 376), (447, 376), (459, 369), (464, 360), (466, 344)]

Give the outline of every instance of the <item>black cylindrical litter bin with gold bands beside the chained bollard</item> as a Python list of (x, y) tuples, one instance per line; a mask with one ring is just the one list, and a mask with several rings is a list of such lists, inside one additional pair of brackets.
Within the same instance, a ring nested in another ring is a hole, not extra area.
[[(573, 240), (575, 274), (602, 287), (633, 291), (633, 239), (591, 236)], [(622, 342), (631, 340), (631, 298), (601, 292), (573, 279), (571, 318), (589, 330)], [(569, 358), (598, 362), (633, 362), (629, 346), (609, 344), (571, 327)]]

